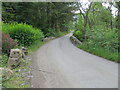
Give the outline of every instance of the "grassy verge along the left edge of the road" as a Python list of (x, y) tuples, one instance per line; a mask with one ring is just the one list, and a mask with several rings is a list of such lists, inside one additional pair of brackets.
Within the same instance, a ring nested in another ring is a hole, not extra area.
[[(31, 55), (32, 52), (36, 51), (43, 44), (44, 42), (35, 41), (32, 45), (27, 47), (29, 52), (28, 55)], [(21, 48), (21, 47), (18, 47), (18, 48)], [(4, 60), (6, 60), (6, 57), (4, 58)], [(6, 65), (7, 63), (5, 62), (5, 64), (2, 64), (2, 67), (6, 67)], [(31, 61), (29, 61), (28, 58), (26, 60), (23, 60), (20, 66), (13, 69), (14, 75), (10, 79), (2, 82), (2, 86), (5, 88), (30, 88), (31, 85), (29, 80), (30, 80), (30, 77), (32, 77), (30, 75), (31, 73), (30, 66), (31, 66)]]

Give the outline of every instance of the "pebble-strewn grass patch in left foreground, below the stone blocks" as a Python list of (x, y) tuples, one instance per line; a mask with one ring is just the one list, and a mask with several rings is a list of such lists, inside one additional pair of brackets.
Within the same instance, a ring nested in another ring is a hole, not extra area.
[(2, 86), (4, 88), (30, 88), (31, 60), (22, 61), (20, 65), (12, 69), (12, 74), (3, 71)]

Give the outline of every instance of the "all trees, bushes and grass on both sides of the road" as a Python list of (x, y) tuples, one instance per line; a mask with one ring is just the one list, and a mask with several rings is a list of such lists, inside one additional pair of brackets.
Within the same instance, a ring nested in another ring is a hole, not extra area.
[[(90, 2), (84, 8), (81, 2), (3, 2), (0, 67), (7, 68), (11, 49), (26, 47), (29, 56), (45, 43), (45, 38), (57, 38), (73, 30), (73, 35), (82, 42), (79, 48), (120, 62), (120, 7), (118, 2), (108, 4), (105, 7), (103, 3)], [(118, 10), (115, 16), (112, 7)], [(30, 66), (31, 61), (25, 60), (12, 69), (11, 77), (1, 79), (3, 87), (30, 88)]]

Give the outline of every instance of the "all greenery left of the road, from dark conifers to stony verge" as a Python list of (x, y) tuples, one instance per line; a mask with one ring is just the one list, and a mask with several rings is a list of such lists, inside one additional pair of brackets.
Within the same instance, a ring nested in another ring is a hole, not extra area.
[[(45, 38), (60, 37), (69, 32), (76, 9), (74, 3), (3, 2), (2, 55), (0, 67), (7, 68), (10, 50), (28, 48), (28, 57), (45, 42)], [(3, 71), (4, 88), (30, 88), (31, 60), (27, 58), (14, 69), (13, 75)], [(8, 74), (8, 73), (7, 73)]]

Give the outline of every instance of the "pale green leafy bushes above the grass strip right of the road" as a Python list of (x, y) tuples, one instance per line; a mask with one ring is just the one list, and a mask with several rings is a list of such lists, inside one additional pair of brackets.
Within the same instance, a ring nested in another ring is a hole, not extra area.
[(117, 51), (118, 50), (118, 33), (115, 29), (97, 26), (89, 31), (88, 44), (98, 45), (104, 49)]

